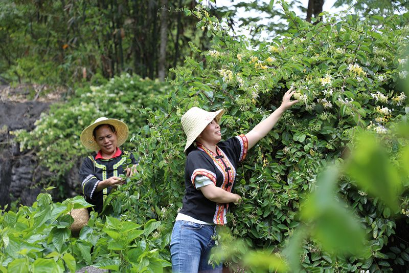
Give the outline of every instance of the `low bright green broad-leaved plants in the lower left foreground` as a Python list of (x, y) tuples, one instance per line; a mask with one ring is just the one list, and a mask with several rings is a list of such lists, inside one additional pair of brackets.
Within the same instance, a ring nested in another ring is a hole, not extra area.
[(162, 272), (170, 265), (160, 251), (169, 238), (157, 236), (159, 221), (138, 224), (113, 217), (103, 221), (92, 214), (79, 238), (72, 237), (69, 213), (89, 206), (79, 196), (53, 203), (44, 193), (31, 207), (21, 206), (16, 213), (0, 211), (0, 271), (75, 272), (95, 265), (119, 272)]

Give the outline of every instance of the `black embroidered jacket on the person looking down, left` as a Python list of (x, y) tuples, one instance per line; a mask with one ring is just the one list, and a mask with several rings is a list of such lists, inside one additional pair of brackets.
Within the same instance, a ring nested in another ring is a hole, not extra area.
[[(110, 159), (95, 159), (96, 156), (96, 154), (88, 156), (82, 161), (79, 174), (80, 181), (82, 181), (81, 189), (85, 200), (94, 205), (94, 207), (88, 208), (88, 210), (94, 209), (96, 212), (101, 213), (104, 200), (111, 192), (112, 187), (107, 187), (97, 192), (97, 185), (100, 181), (112, 176), (124, 174), (122, 164), (126, 162), (126, 157), (117, 156)], [(132, 154), (129, 155), (129, 159), (132, 161), (132, 164), (137, 164), (137, 160), (135, 160)]]

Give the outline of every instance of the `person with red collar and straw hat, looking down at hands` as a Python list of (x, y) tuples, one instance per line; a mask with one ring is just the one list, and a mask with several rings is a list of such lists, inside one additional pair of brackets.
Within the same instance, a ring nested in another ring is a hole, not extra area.
[[(124, 173), (119, 147), (128, 138), (128, 126), (113, 118), (100, 117), (81, 133), (81, 143), (89, 150), (98, 151), (93, 156), (84, 159), (80, 169), (81, 188), (85, 200), (94, 205), (96, 212), (101, 213), (106, 196), (112, 188), (122, 185), (125, 181), (119, 177)], [(129, 158), (135, 165), (137, 161), (130, 154)], [(133, 168), (127, 168), (126, 176), (132, 175)]]

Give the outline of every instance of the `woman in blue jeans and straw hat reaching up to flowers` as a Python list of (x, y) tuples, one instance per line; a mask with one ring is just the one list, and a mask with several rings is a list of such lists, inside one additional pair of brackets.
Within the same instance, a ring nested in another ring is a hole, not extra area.
[[(216, 225), (226, 223), (229, 203), (241, 197), (232, 193), (237, 164), (277, 123), (295, 91), (288, 90), (281, 106), (246, 135), (221, 141), (219, 121), (224, 110), (207, 112), (191, 108), (181, 118), (187, 136), (185, 152), (185, 196), (172, 231), (170, 253), (172, 270), (184, 272), (221, 272), (222, 265), (209, 264)], [(194, 145), (193, 143), (196, 143)]]

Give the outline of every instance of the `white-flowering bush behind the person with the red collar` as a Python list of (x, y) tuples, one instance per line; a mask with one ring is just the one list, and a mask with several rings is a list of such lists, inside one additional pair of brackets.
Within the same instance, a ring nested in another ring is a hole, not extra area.
[[(147, 118), (134, 109), (155, 109), (155, 96), (168, 90), (166, 83), (129, 74), (111, 78), (99, 87), (77, 89), (68, 102), (53, 104), (48, 114), (43, 113), (33, 131), (14, 132), (16, 141), (21, 150), (34, 150), (41, 164), (56, 173), (52, 183), (63, 192), (63, 176), (91, 152), (80, 142), (80, 134), (87, 125), (98, 117), (124, 120), (131, 138)], [(130, 143), (126, 142), (124, 149), (129, 151)]]

